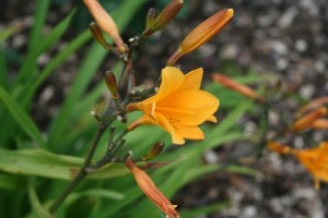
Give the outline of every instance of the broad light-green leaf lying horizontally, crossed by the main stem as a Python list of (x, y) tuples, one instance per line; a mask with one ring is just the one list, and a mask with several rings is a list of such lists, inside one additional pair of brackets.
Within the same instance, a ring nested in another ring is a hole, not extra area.
[[(0, 170), (14, 174), (30, 174), (71, 180), (79, 172), (84, 159), (56, 155), (44, 149), (8, 150), (0, 148)], [(108, 164), (87, 175), (89, 179), (113, 178), (128, 174), (124, 164)]]

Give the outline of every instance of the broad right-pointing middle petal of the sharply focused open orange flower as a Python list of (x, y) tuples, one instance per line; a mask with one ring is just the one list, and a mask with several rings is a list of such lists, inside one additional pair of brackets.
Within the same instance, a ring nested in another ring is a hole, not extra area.
[[(185, 125), (198, 125), (212, 116), (219, 99), (204, 90), (186, 90), (168, 96), (156, 104), (156, 112), (178, 120)], [(186, 112), (190, 111), (190, 112)]]

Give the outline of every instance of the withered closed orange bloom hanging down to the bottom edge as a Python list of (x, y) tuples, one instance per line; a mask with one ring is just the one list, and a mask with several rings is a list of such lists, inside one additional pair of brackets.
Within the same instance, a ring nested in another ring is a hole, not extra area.
[(179, 218), (178, 213), (175, 210), (177, 205), (171, 204), (143, 170), (139, 169), (131, 159), (126, 160), (126, 166), (133, 173), (136, 182), (141, 191), (166, 215), (167, 218)]

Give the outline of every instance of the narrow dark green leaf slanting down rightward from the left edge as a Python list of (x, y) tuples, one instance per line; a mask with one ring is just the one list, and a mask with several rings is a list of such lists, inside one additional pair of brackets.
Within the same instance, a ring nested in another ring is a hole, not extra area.
[(4, 104), (12, 117), (16, 120), (24, 132), (39, 146), (45, 147), (46, 143), (31, 117), (22, 107), (0, 86), (0, 100)]

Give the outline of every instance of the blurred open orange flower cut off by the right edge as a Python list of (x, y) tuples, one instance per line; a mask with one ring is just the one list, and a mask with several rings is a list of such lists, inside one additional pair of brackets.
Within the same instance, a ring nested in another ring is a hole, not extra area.
[(328, 182), (328, 142), (323, 142), (316, 148), (292, 149), (277, 142), (268, 144), (268, 148), (280, 153), (291, 154), (314, 175), (315, 187), (319, 189), (319, 182)]

